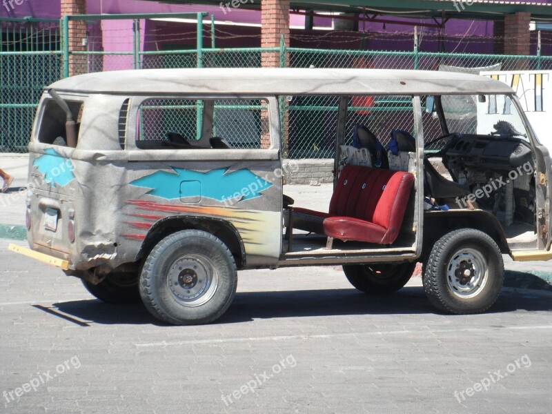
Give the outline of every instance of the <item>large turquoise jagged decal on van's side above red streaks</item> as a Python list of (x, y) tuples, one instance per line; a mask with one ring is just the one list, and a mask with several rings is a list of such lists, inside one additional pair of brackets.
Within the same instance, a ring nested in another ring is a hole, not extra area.
[[(261, 196), (261, 191), (272, 183), (253, 174), (250, 170), (228, 172), (228, 168), (197, 172), (172, 168), (174, 173), (157, 171), (130, 182), (131, 186), (151, 188), (148, 194), (164, 199), (207, 197), (218, 201), (242, 197), (241, 200)], [(199, 185), (182, 186), (182, 181), (195, 181)]]

